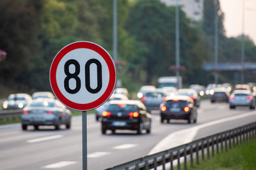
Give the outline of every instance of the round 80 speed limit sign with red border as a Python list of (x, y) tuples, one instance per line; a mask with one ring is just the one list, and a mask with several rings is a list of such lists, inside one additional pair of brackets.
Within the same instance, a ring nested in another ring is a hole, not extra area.
[(116, 83), (113, 59), (101, 46), (77, 41), (52, 60), (50, 83), (55, 96), (74, 110), (93, 110), (111, 96)]

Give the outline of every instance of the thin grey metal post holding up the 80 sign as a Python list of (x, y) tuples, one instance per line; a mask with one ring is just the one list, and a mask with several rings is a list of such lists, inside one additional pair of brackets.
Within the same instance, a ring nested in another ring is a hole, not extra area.
[(82, 112), (83, 170), (87, 170), (87, 111)]

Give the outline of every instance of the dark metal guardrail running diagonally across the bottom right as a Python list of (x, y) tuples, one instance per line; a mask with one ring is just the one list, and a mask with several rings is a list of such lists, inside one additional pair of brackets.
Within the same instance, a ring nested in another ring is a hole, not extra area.
[(210, 159), (210, 155), (214, 157), (215, 154), (224, 152), (224, 150), (227, 152), (228, 149), (244, 143), (249, 139), (255, 138), (255, 134), (256, 122), (253, 124), (244, 125), (242, 127), (237, 127), (236, 129), (214, 134), (206, 138), (198, 139), (185, 145), (164, 150), (163, 152), (141, 157), (140, 159), (132, 160), (131, 162), (108, 168), (108, 170), (156, 170), (157, 167), (160, 166), (163, 170), (166, 169), (166, 166), (170, 167), (172, 170), (174, 161), (177, 161), (177, 169), (179, 170), (181, 159), (184, 160), (184, 169), (187, 169), (189, 162), (190, 167), (194, 166), (194, 161), (196, 164), (200, 163), (200, 155), (202, 160), (205, 160), (205, 157)]

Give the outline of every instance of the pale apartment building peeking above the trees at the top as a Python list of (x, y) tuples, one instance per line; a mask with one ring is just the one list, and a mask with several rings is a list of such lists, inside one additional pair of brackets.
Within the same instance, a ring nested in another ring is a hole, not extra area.
[[(176, 0), (160, 0), (167, 6), (175, 6)], [(200, 21), (204, 13), (204, 0), (177, 0), (188, 18), (193, 21)]]

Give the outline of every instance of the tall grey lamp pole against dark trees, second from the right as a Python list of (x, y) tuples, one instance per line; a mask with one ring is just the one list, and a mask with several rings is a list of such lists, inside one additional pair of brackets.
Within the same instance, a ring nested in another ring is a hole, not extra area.
[(215, 75), (214, 75), (214, 83), (218, 84), (218, 0), (215, 1), (215, 33), (214, 33), (214, 64), (215, 64)]

